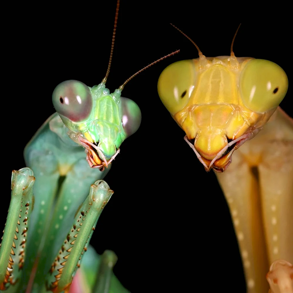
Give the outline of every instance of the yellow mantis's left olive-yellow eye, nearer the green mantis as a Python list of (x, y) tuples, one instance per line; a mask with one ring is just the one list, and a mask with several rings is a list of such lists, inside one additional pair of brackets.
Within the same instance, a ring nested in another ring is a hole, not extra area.
[(166, 67), (158, 81), (158, 93), (167, 110), (176, 114), (187, 104), (195, 86), (192, 60), (175, 62)]

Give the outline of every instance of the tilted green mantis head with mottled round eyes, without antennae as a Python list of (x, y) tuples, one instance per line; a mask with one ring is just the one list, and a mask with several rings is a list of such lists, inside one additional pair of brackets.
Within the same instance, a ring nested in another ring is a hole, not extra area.
[(86, 149), (93, 168), (107, 167), (125, 138), (139, 128), (138, 105), (120, 94), (121, 90), (110, 94), (105, 82), (90, 88), (68, 80), (54, 89), (53, 105), (70, 130), (69, 137)]

